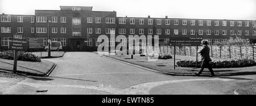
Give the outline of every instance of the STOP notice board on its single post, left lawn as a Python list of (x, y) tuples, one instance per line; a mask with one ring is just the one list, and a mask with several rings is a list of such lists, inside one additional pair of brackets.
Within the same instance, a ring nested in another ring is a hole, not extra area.
[(13, 35), (10, 39), (9, 49), (14, 50), (13, 73), (17, 71), (18, 50), (26, 50), (27, 44), (27, 40), (23, 39), (22, 35)]

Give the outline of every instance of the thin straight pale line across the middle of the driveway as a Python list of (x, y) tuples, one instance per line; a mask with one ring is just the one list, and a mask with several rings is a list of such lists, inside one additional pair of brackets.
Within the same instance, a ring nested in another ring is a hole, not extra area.
[(55, 75), (57, 76), (69, 76), (69, 75), (97, 75), (97, 74), (156, 74), (156, 73), (90, 73), (90, 74), (63, 74), (63, 75)]

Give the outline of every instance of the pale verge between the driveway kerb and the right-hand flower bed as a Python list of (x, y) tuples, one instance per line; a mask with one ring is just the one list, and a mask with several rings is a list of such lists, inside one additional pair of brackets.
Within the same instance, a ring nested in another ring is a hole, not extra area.
[[(192, 67), (177, 67), (177, 66), (176, 66), (176, 69), (174, 69), (173, 58), (169, 60), (148, 61), (146, 57), (141, 57), (141, 56), (134, 56), (134, 59), (127, 59), (127, 58), (130, 58), (130, 56), (108, 55), (106, 57), (113, 59), (115, 61), (127, 63), (137, 67), (144, 67), (145, 69), (153, 70), (153, 71), (168, 74), (168, 75), (195, 76), (195, 73), (197, 73), (200, 70), (200, 69), (196, 69), (195, 67), (192, 68)], [(184, 59), (184, 57), (185, 56), (176, 56), (176, 62)], [(185, 58), (189, 58), (189, 57), (185, 57)], [(214, 74), (217, 77), (220, 77), (220, 76), (256, 74), (255, 69), (256, 69), (256, 66), (221, 68), (221, 69), (213, 69), (213, 70), (214, 70)], [(208, 76), (209, 74), (210, 74), (209, 70), (205, 68), (204, 72), (201, 75)]]

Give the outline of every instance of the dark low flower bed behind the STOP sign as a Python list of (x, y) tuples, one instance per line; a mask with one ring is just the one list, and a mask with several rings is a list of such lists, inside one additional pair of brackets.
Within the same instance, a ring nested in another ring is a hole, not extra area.
[[(14, 59), (14, 51), (13, 50), (6, 50), (0, 52), (0, 58), (13, 60)], [(19, 51), (18, 52), (18, 60), (19, 61), (31, 61), (31, 62), (41, 62), (38, 56), (35, 54)]]

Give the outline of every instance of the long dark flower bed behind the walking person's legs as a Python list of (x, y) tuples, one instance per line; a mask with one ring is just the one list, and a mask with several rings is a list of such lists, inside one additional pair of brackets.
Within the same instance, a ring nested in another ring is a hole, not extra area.
[[(197, 67), (201, 67), (202, 61), (197, 63)], [(232, 60), (232, 61), (213, 61), (210, 62), (213, 68), (229, 68), (229, 67), (248, 67), (248, 66), (255, 66), (256, 62), (254, 60), (249, 59), (239, 59), (239, 60)], [(195, 61), (178, 61), (177, 66), (180, 67), (196, 67)]]

